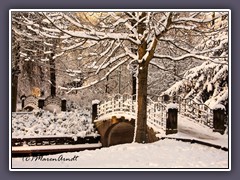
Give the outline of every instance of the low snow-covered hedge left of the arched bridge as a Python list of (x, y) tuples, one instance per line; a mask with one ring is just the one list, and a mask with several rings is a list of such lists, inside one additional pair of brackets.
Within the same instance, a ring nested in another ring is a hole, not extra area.
[(12, 137), (85, 137), (97, 136), (89, 113), (61, 112), (53, 114), (48, 111), (34, 111), (33, 114), (12, 115)]

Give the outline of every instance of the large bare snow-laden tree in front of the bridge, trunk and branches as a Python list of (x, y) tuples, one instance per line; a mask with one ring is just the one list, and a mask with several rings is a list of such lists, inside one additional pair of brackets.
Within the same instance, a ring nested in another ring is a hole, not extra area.
[[(198, 59), (223, 63), (211, 56), (223, 43), (207, 46), (207, 39), (227, 29), (211, 26), (228, 12), (36, 12), (45, 17), (49, 27), (28, 21), (39, 35), (60, 39), (59, 53), (78, 50), (79, 68), (70, 73), (83, 75), (81, 87), (59, 87), (73, 91), (104, 81), (120, 66), (127, 65), (137, 77), (137, 117), (135, 141), (147, 142), (147, 83), (149, 65), (173, 71), (168, 61)], [(31, 23), (30, 23), (31, 22)], [(226, 61), (224, 63), (227, 63)], [(130, 68), (133, 65), (137, 68)]]

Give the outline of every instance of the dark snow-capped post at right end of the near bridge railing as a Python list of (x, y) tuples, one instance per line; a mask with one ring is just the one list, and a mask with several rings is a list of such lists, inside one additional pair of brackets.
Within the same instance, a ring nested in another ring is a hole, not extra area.
[(176, 103), (169, 103), (167, 105), (166, 135), (178, 132), (177, 115), (178, 105)]

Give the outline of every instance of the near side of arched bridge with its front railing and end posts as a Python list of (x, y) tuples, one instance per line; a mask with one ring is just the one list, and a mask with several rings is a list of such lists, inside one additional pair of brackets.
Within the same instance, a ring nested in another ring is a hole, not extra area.
[[(131, 143), (134, 138), (136, 119), (136, 98), (131, 95), (115, 95), (105, 101), (94, 101), (92, 106), (93, 122), (101, 135), (103, 146)], [(177, 109), (169, 108), (161, 102), (148, 99), (147, 106), (148, 142), (157, 140), (155, 134), (177, 132)]]

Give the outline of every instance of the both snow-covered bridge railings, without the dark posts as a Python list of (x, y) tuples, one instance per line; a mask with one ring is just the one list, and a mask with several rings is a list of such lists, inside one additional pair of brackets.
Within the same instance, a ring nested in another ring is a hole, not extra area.
[[(97, 120), (108, 120), (113, 116), (120, 118), (124, 116), (126, 119), (136, 119), (136, 97), (128, 94), (117, 94), (98, 104)], [(168, 120), (169, 103), (174, 103), (178, 109), (178, 113), (193, 119), (195, 122), (216, 129), (214, 125), (213, 109), (205, 104), (198, 104), (193, 99), (184, 99), (180, 96), (160, 96), (158, 101), (147, 99), (147, 124), (154, 131), (166, 131)], [(216, 118), (215, 118), (216, 119)], [(226, 124), (225, 124), (226, 126)]]

